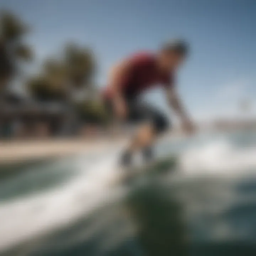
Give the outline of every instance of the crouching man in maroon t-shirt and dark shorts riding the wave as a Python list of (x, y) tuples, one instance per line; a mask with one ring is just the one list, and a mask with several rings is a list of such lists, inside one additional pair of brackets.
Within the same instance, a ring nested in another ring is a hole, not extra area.
[(145, 161), (151, 160), (155, 138), (169, 128), (164, 113), (138, 98), (154, 85), (163, 85), (168, 102), (181, 118), (183, 128), (189, 133), (193, 131), (193, 124), (182, 106), (174, 84), (175, 73), (187, 54), (186, 42), (176, 40), (162, 45), (157, 53), (136, 53), (113, 67), (108, 86), (103, 91), (108, 109), (119, 120), (141, 123), (121, 156), (122, 165), (131, 164), (135, 150), (142, 150)]

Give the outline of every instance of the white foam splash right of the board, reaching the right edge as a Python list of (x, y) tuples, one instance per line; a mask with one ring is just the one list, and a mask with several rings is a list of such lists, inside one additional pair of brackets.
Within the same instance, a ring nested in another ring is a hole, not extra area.
[(185, 174), (242, 174), (256, 172), (256, 147), (237, 148), (227, 138), (185, 150), (179, 159)]

